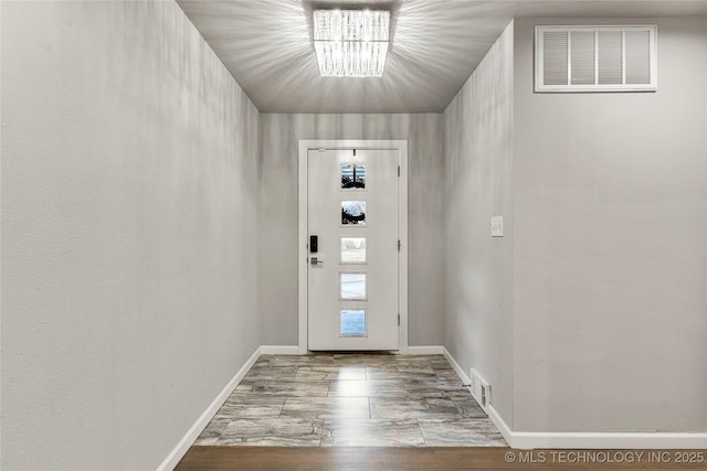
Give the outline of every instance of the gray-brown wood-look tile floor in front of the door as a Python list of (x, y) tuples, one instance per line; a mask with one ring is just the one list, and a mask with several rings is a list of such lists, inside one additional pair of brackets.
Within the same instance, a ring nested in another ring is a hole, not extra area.
[(263, 355), (194, 446), (506, 447), (442, 355)]

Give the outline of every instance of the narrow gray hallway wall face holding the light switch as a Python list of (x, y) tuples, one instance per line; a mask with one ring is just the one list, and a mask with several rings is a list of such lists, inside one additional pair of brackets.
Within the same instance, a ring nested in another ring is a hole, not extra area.
[[(446, 318), (444, 345), (492, 385), (511, 424), (513, 404), (513, 24), (444, 113)], [(504, 237), (490, 217), (504, 216)]]

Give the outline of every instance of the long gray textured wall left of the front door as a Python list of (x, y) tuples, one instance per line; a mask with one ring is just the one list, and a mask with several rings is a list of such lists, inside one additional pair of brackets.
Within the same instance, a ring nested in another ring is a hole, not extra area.
[(257, 110), (175, 2), (1, 26), (1, 467), (155, 469), (260, 344)]

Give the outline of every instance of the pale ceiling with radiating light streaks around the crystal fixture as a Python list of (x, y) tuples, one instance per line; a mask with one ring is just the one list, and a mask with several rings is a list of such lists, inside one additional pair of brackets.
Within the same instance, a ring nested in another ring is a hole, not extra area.
[[(441, 113), (514, 17), (707, 15), (707, 0), (177, 0), (262, 113)], [(320, 77), (313, 8), (389, 8), (382, 78)]]

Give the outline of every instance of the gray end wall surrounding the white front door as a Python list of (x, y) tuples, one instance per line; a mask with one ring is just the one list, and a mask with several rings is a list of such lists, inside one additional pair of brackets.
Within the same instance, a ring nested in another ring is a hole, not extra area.
[(442, 343), (442, 115), (261, 115), (260, 327), (263, 344), (297, 344), (297, 144), (408, 139), (409, 342)]

